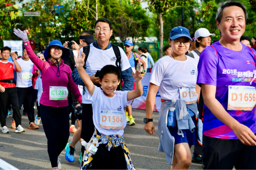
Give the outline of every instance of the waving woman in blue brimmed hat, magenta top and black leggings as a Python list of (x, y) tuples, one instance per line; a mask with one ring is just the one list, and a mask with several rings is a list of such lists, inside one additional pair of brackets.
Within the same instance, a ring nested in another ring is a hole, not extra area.
[(42, 77), (43, 93), (40, 98), (41, 119), (47, 137), (49, 158), (53, 170), (60, 170), (59, 155), (69, 138), (68, 90), (78, 102), (82, 96), (71, 76), (71, 68), (64, 64), (70, 51), (58, 40), (53, 40), (44, 52), (46, 61), (39, 59), (33, 52), (26, 31), (14, 29), (14, 34), (23, 40), (27, 55), (39, 68)]

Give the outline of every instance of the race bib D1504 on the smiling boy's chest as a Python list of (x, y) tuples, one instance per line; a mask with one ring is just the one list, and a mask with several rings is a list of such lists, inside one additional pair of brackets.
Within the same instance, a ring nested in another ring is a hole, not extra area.
[(100, 113), (100, 128), (124, 130), (123, 112), (102, 110)]

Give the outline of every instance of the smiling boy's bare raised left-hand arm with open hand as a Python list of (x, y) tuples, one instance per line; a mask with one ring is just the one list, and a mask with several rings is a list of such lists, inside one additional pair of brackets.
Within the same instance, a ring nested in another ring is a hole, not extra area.
[(77, 59), (75, 59), (76, 60), (75, 65), (76, 65), (77, 71), (79, 73), (79, 76), (81, 77), (82, 81), (84, 82), (84, 85), (86, 86), (88, 92), (90, 93), (91, 96), (93, 96), (95, 86), (94, 86), (93, 82), (91, 81), (90, 76), (84, 70), (85, 55), (84, 55), (84, 53), (82, 53), (81, 55), (82, 56), (80, 56), (80, 54), (78, 53), (78, 57), (77, 57)]

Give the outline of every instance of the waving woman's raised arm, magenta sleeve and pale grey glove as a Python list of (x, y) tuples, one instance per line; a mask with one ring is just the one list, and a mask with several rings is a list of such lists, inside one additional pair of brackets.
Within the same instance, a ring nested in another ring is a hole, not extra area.
[(27, 55), (29, 56), (29, 58), (31, 59), (31, 61), (36, 65), (37, 68), (40, 69), (40, 71), (42, 71), (44, 69), (44, 64), (45, 62), (41, 59), (39, 59), (34, 51), (32, 50), (31, 46), (30, 46), (30, 42), (28, 41), (28, 38), (27, 38), (27, 34), (26, 34), (26, 31), (22, 31), (20, 29), (16, 29), (14, 28), (14, 34), (18, 37), (18, 38), (21, 38), (22, 41), (23, 41), (23, 44), (25, 46), (25, 49), (26, 49), (26, 53)]

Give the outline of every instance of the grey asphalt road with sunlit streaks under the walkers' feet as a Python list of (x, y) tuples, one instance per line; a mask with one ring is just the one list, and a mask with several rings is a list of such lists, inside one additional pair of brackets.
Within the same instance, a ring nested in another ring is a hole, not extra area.
[[(37, 110), (35, 109), (35, 115)], [(137, 170), (169, 170), (170, 165), (165, 159), (165, 154), (158, 152), (158, 112), (153, 113), (155, 135), (148, 135), (144, 130), (143, 118), (145, 110), (132, 109), (136, 125), (126, 126), (124, 130), (124, 140), (130, 150), (132, 163)], [(26, 132), (16, 134), (15, 129), (11, 129), (12, 115), (6, 119), (8, 134), (0, 133), (0, 158), (20, 170), (51, 170), (51, 164), (47, 153), (47, 139), (44, 129), (40, 123), (39, 129), (28, 129), (29, 121), (27, 116), (22, 115), (22, 127)], [(71, 141), (73, 133), (70, 133)], [(80, 144), (76, 144), (75, 162), (70, 163), (65, 159), (65, 150), (60, 158), (62, 170), (79, 170)], [(191, 148), (191, 153), (193, 152)], [(1, 165), (0, 165), (1, 167)], [(1, 168), (0, 168), (1, 169)], [(192, 163), (190, 170), (203, 170), (201, 164)]]

